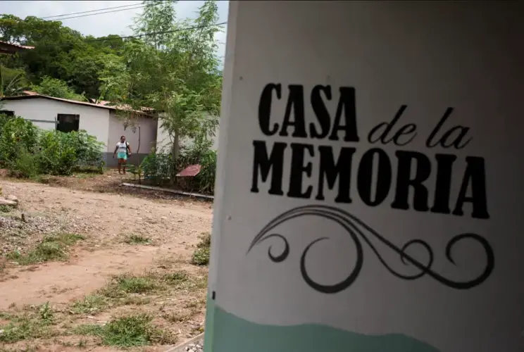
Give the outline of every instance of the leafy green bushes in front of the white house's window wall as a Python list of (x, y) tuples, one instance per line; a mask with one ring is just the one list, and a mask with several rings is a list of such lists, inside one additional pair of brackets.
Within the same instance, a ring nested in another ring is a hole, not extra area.
[(85, 131), (44, 131), (23, 118), (0, 115), (0, 167), (16, 177), (71, 175), (88, 166), (102, 170), (103, 145)]

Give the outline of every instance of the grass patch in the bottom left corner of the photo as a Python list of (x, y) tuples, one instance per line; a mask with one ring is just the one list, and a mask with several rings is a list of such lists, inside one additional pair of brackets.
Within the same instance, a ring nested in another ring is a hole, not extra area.
[(37, 307), (37, 314), (11, 315), (10, 318), (11, 322), (8, 325), (0, 327), (1, 330), (4, 330), (0, 334), (1, 342), (14, 343), (56, 335), (51, 326), (54, 324), (54, 312), (49, 303)]

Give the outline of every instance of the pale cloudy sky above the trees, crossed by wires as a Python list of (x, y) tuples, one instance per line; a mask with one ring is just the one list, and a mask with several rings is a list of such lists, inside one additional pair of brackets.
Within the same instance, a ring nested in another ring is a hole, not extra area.
[[(204, 1), (189, 1), (182, 0), (175, 4), (175, 10), (179, 18), (196, 18), (199, 6)], [(98, 10), (101, 8), (110, 8), (116, 6), (136, 5), (141, 6), (142, 1), (1, 1), (0, 13), (8, 13), (11, 15), (25, 18), (26, 16), (36, 16), (39, 18), (65, 15), (68, 13), (78, 13), (83, 11)], [(130, 6), (130, 7), (136, 7)], [(229, 1), (218, 1), (218, 22), (227, 21), (227, 9)], [(114, 8), (105, 11), (117, 11), (122, 8)], [(104, 12), (104, 11), (101, 11)], [(103, 37), (108, 34), (117, 34), (120, 36), (131, 35), (130, 25), (133, 23), (133, 18), (142, 13), (142, 8), (133, 8), (125, 11), (118, 11), (113, 13), (103, 13), (99, 15), (89, 15), (80, 18), (70, 18), (62, 20), (63, 25), (73, 28), (85, 35), (93, 35), (94, 37)], [(87, 13), (78, 14), (87, 15)], [(63, 16), (62, 18), (71, 17)], [(55, 20), (55, 18), (52, 18)], [(58, 18), (59, 19), (59, 18)], [(223, 32), (216, 34), (216, 39), (219, 42), (218, 56), (223, 59), (225, 55), (225, 33), (227, 25), (223, 26)]]

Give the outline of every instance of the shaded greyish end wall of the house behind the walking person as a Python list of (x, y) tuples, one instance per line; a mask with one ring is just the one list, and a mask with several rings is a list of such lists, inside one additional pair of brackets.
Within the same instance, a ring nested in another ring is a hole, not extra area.
[[(108, 151), (113, 152), (120, 136), (124, 135), (133, 153), (137, 153), (140, 142), (138, 153), (148, 154), (156, 142), (157, 122), (154, 118), (137, 118), (134, 122), (135, 127), (137, 127), (135, 132), (133, 132), (132, 126), (124, 130), (123, 121), (111, 111), (107, 140)], [(140, 127), (140, 130), (138, 127)]]

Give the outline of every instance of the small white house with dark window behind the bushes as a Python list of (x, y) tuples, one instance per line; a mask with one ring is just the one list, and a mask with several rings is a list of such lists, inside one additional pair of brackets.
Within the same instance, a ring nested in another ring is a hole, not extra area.
[(122, 135), (125, 135), (133, 152), (128, 163), (134, 165), (141, 163), (156, 144), (158, 122), (151, 112), (132, 111), (132, 125), (126, 125), (119, 116), (122, 109), (109, 106), (107, 102), (87, 103), (34, 92), (26, 94), (2, 99), (4, 106), (0, 113), (20, 116), (44, 130), (85, 130), (104, 143), (104, 161), (108, 166), (117, 163), (113, 159), (113, 151)]

